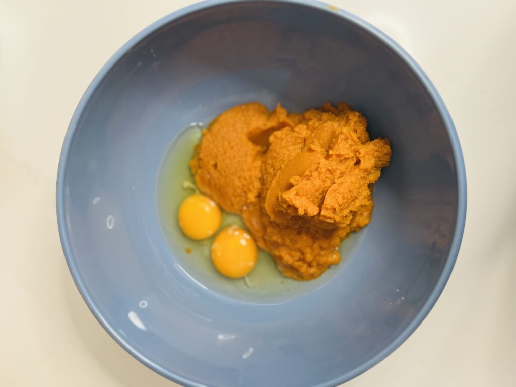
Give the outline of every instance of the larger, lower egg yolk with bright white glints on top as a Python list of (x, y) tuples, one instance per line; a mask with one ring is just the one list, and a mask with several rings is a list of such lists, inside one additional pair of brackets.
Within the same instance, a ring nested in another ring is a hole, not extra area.
[(215, 268), (229, 278), (247, 276), (256, 265), (258, 250), (246, 230), (231, 226), (222, 230), (212, 244)]

